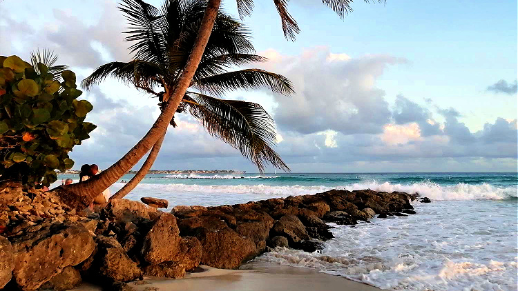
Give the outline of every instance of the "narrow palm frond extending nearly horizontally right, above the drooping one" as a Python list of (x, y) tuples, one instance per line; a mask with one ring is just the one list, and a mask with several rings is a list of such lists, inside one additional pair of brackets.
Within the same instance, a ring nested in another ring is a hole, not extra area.
[(202, 92), (216, 95), (222, 95), (231, 90), (249, 90), (260, 87), (269, 88), (278, 94), (289, 95), (294, 92), (289, 79), (261, 69), (238, 70), (196, 79), (193, 80), (191, 86)]

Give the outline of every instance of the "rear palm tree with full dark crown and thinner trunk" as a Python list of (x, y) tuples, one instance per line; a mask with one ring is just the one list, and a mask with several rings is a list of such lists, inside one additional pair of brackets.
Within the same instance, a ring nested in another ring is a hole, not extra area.
[[(125, 4), (122, 6), (123, 11), (128, 19), (132, 19), (135, 13)], [(169, 7), (159, 16), (164, 21), (157, 21), (153, 44), (153, 47), (162, 47), (162, 50), (151, 54), (152, 49), (148, 48), (148, 43), (144, 43), (144, 46), (135, 43), (132, 46), (135, 52), (133, 61), (112, 62), (100, 66), (90, 77), (84, 79), (83, 87), (89, 89), (110, 75), (158, 97), (161, 101), (159, 105), (162, 105), (162, 93), (155, 88), (162, 90), (164, 83), (174, 82), (183, 69), (189, 57), (189, 49), (198, 33), (196, 19), (203, 17), (206, 6), (201, 0), (189, 3), (173, 1), (168, 4)], [(191, 82), (190, 88), (195, 91), (186, 92), (177, 112), (191, 113), (210, 134), (238, 148), (258, 166), (260, 172), (265, 168), (265, 161), (288, 171), (287, 165), (271, 148), (276, 136), (274, 121), (261, 106), (251, 102), (219, 99), (208, 94), (221, 96), (229, 90), (259, 86), (266, 86), (280, 94), (290, 94), (293, 89), (285, 77), (265, 70), (228, 72), (233, 66), (266, 59), (255, 54), (249, 30), (239, 21), (219, 12), (215, 23), (200, 66)], [(139, 31), (138, 34), (140, 33), (142, 32)], [(152, 31), (148, 29), (146, 33)], [(135, 39), (135, 33), (131, 33), (127, 39)], [(174, 119), (171, 125), (175, 126)], [(124, 197), (144, 178), (153, 165), (163, 140), (164, 136), (153, 145), (142, 168), (112, 199)]]

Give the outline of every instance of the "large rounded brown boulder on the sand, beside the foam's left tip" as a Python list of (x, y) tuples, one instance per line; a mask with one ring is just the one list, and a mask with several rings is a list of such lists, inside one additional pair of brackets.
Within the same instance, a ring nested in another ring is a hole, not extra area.
[(251, 239), (230, 228), (217, 231), (202, 228), (196, 237), (202, 244), (201, 263), (214, 268), (235, 269), (257, 254), (256, 244)]

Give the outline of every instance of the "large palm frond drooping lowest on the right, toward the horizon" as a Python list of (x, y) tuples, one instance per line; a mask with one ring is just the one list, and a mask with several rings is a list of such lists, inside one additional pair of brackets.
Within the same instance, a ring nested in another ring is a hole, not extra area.
[(238, 149), (257, 165), (260, 172), (264, 172), (265, 163), (290, 171), (272, 148), (276, 144), (275, 123), (262, 106), (193, 92), (188, 94), (183, 103), (209, 134)]

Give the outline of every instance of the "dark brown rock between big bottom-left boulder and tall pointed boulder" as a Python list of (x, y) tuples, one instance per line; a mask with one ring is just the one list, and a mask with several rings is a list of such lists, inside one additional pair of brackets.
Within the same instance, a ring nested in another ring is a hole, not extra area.
[[(97, 235), (95, 241), (98, 243), (98, 250), (91, 268), (100, 276), (122, 282), (142, 278), (142, 271), (137, 263), (128, 257), (115, 239)], [(93, 279), (98, 279), (95, 274)]]

